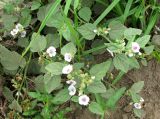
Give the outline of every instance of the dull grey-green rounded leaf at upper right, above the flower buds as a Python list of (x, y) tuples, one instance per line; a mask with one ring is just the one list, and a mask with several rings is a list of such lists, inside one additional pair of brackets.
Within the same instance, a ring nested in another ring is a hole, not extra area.
[(109, 36), (113, 40), (122, 38), (124, 30), (126, 29), (120, 21), (112, 21), (109, 24), (109, 28), (111, 28), (111, 30), (109, 30)]

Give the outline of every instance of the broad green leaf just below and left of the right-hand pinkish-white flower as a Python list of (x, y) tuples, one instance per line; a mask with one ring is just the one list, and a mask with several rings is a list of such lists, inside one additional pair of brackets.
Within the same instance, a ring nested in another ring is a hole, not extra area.
[(113, 59), (113, 64), (116, 69), (119, 69), (125, 73), (129, 70), (129, 58), (125, 54), (118, 54)]

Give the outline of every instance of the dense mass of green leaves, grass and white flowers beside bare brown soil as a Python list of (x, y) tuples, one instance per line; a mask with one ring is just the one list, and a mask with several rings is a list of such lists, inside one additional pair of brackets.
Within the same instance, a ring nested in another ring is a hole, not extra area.
[[(145, 5), (156, 10), (152, 3)], [(140, 118), (144, 81), (131, 87), (118, 82), (146, 66), (155, 50), (148, 35), (155, 20), (149, 24), (141, 16), (158, 13), (136, 12), (145, 5), (138, 0), (2, 0), (0, 76), (6, 80), (0, 78), (0, 97), (7, 101), (2, 118), (66, 119), (83, 107), (104, 119), (123, 96)]]

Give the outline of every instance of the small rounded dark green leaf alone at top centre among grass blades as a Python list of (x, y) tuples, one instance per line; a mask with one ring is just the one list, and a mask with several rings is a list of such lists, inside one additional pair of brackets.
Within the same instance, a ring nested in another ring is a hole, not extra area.
[(89, 7), (83, 7), (79, 10), (78, 15), (86, 22), (90, 21), (92, 11)]

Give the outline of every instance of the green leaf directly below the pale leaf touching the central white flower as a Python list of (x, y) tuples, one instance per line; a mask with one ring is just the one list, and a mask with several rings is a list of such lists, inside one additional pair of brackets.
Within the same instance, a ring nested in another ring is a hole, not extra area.
[(51, 93), (53, 90), (58, 88), (61, 85), (61, 77), (60, 76), (53, 76), (45, 81), (46, 78), (44, 77), (45, 82), (45, 89), (47, 93)]

